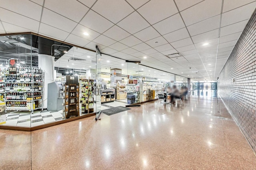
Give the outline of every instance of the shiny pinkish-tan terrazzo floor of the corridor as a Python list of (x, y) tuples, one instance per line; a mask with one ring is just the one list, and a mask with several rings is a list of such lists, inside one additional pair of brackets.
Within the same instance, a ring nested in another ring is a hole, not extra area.
[(101, 118), (0, 130), (0, 169), (256, 169), (250, 145), (216, 98), (191, 96), (174, 109), (149, 102)]

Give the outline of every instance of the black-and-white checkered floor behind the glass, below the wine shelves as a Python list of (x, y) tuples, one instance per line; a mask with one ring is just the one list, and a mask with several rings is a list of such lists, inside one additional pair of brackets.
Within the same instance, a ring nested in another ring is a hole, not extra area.
[(31, 127), (34, 127), (60, 120), (62, 120), (62, 111), (35, 111), (31, 115), (31, 121), (30, 113), (16, 112), (6, 114), (6, 124), (4, 125), (30, 127), (31, 123)]

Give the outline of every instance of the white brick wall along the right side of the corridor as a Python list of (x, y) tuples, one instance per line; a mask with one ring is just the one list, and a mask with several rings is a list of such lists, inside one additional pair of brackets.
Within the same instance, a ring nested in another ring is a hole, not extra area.
[(219, 75), (218, 94), (256, 151), (256, 10)]

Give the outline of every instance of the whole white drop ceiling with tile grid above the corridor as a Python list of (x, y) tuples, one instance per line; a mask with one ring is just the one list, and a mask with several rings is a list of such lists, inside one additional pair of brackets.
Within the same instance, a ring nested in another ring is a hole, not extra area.
[[(0, 33), (32, 31), (89, 49), (98, 45), (122, 59), (209, 80), (210, 70), (218, 76), (256, 7), (255, 0), (224, 0), (223, 11), (222, 0), (1, 1)], [(173, 53), (184, 59), (164, 56)], [(200, 74), (189, 70), (192, 65)]]

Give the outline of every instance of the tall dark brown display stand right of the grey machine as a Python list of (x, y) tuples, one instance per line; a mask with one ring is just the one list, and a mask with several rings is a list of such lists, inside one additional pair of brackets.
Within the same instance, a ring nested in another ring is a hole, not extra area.
[(66, 76), (64, 118), (79, 116), (79, 83), (78, 76)]

